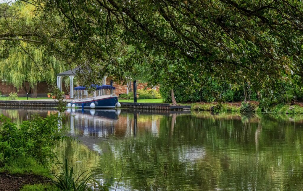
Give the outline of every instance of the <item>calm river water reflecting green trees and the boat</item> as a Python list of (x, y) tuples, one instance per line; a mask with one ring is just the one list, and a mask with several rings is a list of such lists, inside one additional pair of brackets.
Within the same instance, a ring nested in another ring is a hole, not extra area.
[[(55, 110), (0, 108), (21, 122)], [(302, 190), (303, 117), (287, 115), (65, 112), (56, 148), (76, 171), (98, 167), (112, 190)]]

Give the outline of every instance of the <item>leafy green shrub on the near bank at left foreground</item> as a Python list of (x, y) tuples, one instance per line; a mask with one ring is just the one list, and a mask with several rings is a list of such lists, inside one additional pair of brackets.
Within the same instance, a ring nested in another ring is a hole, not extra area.
[(23, 121), (19, 126), (3, 114), (0, 121), (0, 151), (5, 160), (26, 155), (46, 165), (53, 157), (52, 150), (56, 143), (64, 138), (58, 127), (58, 115), (46, 118), (33, 115), (31, 120)]

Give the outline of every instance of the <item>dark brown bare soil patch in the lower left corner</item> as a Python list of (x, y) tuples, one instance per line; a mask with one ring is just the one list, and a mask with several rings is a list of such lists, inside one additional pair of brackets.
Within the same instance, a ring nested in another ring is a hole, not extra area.
[(16, 191), (25, 184), (45, 182), (45, 177), (40, 175), (0, 173), (0, 191)]

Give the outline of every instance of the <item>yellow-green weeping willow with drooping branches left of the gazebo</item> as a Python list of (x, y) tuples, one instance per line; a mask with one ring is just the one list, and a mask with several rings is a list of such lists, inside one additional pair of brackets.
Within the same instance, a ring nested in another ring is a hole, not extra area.
[[(0, 23), (6, 24), (6, 27), (1, 27), (6, 34), (9, 33), (10, 28), (25, 32), (29, 28), (39, 27), (37, 26), (38, 16), (35, 15), (37, 13), (35, 6), (16, 2), (7, 9), (12, 9), (15, 13), (10, 14), (12, 10), (7, 11), (9, 16), (0, 17)], [(45, 46), (38, 43), (37, 40), (26, 39), (22, 35), (21, 37), (18, 35), (11, 37), (5, 38), (5, 41), (2, 42), (0, 78), (7, 80), (17, 89), (23, 87), (26, 92), (32, 93), (32, 97), (37, 97), (37, 83), (47, 82), (49, 85), (54, 85), (56, 74), (64, 70), (64, 63), (53, 55), (49, 55)], [(27, 82), (29, 89), (26, 86)]]

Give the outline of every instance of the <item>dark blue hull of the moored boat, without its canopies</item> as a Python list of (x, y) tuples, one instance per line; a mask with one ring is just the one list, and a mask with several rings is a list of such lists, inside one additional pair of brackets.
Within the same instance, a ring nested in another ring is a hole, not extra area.
[(88, 101), (73, 100), (73, 101), (71, 101), (71, 104), (75, 104), (76, 107), (82, 108), (82, 103), (83, 103), (84, 108), (91, 108), (92, 102), (95, 103), (95, 108), (115, 108), (116, 104), (118, 102), (118, 97), (112, 96), (112, 97), (102, 98), (102, 99), (96, 98), (95, 100), (88, 100)]

